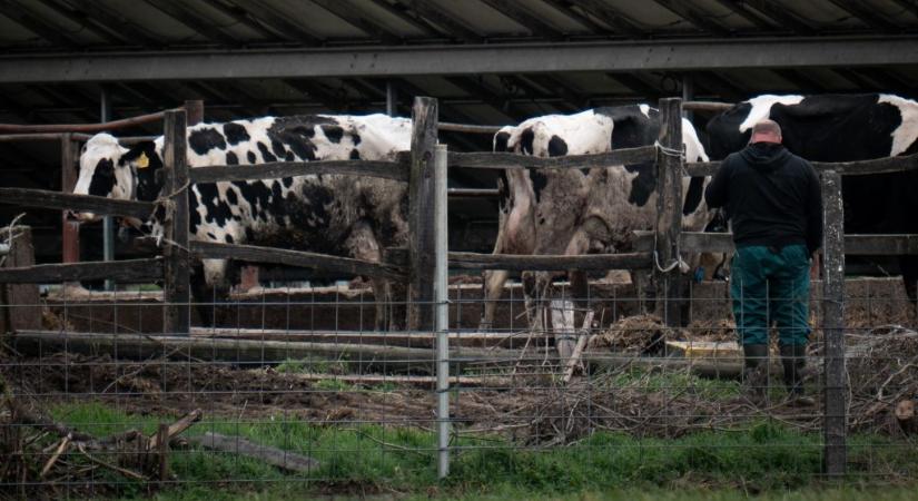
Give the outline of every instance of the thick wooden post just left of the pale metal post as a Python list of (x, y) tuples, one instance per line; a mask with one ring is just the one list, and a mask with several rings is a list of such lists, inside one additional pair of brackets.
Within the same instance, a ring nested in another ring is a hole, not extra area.
[(431, 330), (434, 320), (434, 147), (437, 100), (415, 97), (412, 107), (412, 156), (408, 180), (408, 330)]

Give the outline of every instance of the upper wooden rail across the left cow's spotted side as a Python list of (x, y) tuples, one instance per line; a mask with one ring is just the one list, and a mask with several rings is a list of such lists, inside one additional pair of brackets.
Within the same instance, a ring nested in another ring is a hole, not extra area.
[(319, 174), (408, 180), (407, 166), (398, 161), (382, 160), (269, 161), (257, 165), (207, 166), (193, 168), (189, 176), (191, 183), (217, 183), (279, 179), (282, 177), (315, 176)]

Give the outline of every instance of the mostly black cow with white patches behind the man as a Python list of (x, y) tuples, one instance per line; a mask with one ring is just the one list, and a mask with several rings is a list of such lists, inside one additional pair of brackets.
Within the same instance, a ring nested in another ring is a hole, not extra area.
[[(918, 153), (918, 102), (888, 94), (759, 96), (707, 126), (714, 159), (739, 151), (750, 129), (771, 118), (784, 146), (813, 161), (855, 161)], [(842, 178), (847, 233), (918, 233), (918, 171)], [(906, 292), (916, 299), (918, 256), (901, 256)]]

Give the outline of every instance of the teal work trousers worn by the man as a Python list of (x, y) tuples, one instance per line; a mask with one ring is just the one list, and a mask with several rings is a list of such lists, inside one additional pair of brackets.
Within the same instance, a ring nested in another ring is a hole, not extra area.
[(810, 256), (803, 245), (777, 249), (738, 247), (733, 255), (730, 295), (742, 344), (768, 344), (768, 328), (778, 325), (781, 345), (806, 344), (810, 335)]

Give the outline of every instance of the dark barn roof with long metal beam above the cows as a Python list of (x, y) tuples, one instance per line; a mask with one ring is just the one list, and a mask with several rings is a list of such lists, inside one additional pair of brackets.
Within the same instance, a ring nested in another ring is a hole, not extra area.
[[(102, 95), (111, 118), (203, 99), (208, 120), (387, 96), (408, 115), (427, 95), (442, 120), (504, 125), (683, 94), (914, 98), (916, 81), (916, 0), (0, 0), (0, 122), (99, 121)], [(57, 148), (4, 143), (0, 159), (0, 184), (59, 189)]]

